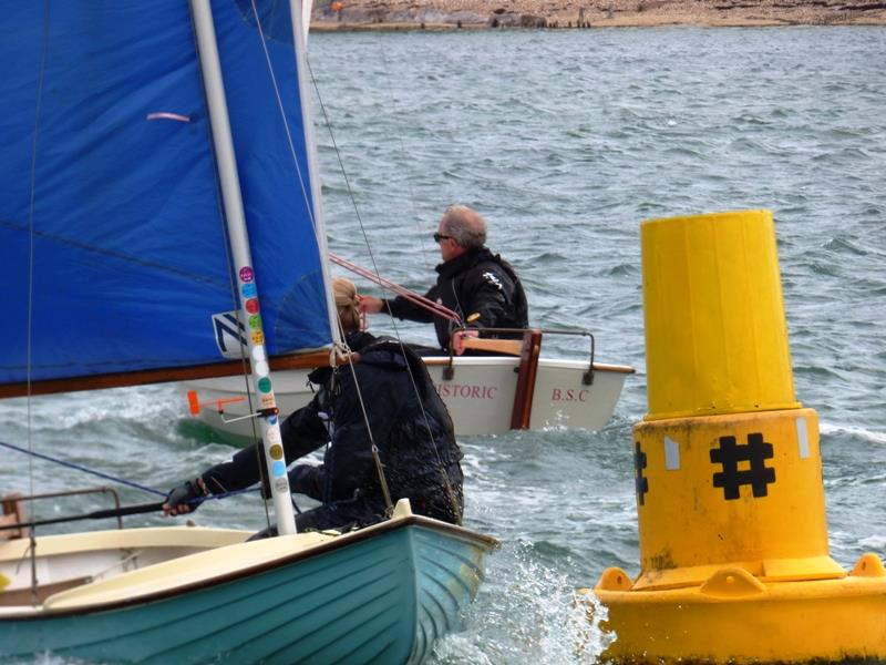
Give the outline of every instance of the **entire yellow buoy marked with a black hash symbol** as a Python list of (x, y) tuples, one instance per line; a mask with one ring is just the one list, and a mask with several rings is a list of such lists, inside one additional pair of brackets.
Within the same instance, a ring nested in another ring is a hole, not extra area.
[(818, 421), (796, 401), (772, 215), (641, 227), (649, 413), (633, 428), (640, 574), (593, 592), (605, 659), (886, 658), (886, 572), (830, 556)]

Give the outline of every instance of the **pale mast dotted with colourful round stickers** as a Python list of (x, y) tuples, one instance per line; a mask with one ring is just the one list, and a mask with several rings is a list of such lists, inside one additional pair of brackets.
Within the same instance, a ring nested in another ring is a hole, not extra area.
[(246, 215), (240, 194), (237, 162), (234, 156), (234, 141), (230, 133), (225, 89), (222, 81), (222, 64), (218, 58), (218, 45), (213, 23), (210, 0), (190, 0), (190, 11), (197, 33), (203, 83), (209, 108), (209, 120), (215, 145), (216, 166), (222, 184), (222, 198), (227, 218), (228, 239), (237, 273), (237, 293), (240, 296), (240, 319), (256, 321), (248, 329), (247, 344), (253, 371), (250, 378), (253, 389), (260, 396), (259, 423), (265, 461), (268, 468), (268, 480), (274, 499), (274, 512), (277, 530), (280, 535), (296, 533), (296, 519), (289, 492), (289, 479), (284, 459), (280, 419), (277, 415), (277, 401), (270, 379), (265, 335), (261, 329), (260, 307), (258, 299), (257, 275), (253, 268), (249, 252), (249, 239), (246, 233)]

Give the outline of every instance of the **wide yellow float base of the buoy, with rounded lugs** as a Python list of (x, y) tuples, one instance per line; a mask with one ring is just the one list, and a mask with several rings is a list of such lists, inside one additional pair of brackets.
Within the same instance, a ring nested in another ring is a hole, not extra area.
[(608, 610), (600, 625), (617, 636), (601, 661), (886, 659), (886, 571), (874, 554), (839, 580), (763, 583), (724, 567), (699, 586), (632, 591), (627, 573), (609, 569), (579, 593), (600, 600)]

